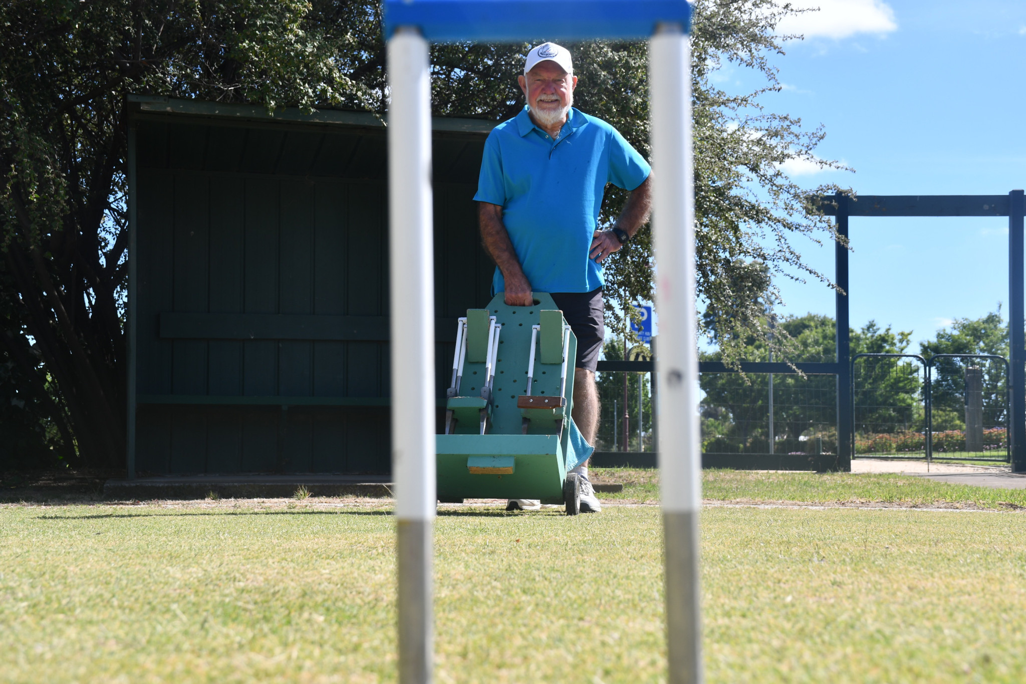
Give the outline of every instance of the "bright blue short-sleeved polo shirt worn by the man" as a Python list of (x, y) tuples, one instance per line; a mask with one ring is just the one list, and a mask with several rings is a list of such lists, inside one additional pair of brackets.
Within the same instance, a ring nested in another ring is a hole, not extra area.
[[(601, 119), (571, 108), (552, 139), (525, 107), (488, 134), (474, 199), (503, 207), (503, 223), (532, 290), (590, 292), (602, 286), (602, 266), (588, 252), (605, 184), (634, 190), (650, 170)], [(491, 289), (506, 289), (499, 269)]]

